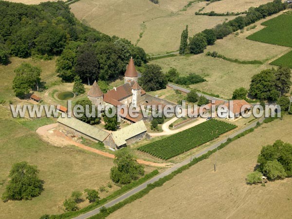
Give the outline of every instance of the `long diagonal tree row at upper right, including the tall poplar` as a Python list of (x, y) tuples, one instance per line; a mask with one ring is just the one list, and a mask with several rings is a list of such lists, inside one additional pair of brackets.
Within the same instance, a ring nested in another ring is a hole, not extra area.
[(186, 27), (181, 37), (180, 54), (203, 53), (206, 46), (213, 45), (217, 39), (222, 39), (237, 30), (255, 23), (257, 20), (276, 14), (286, 8), (287, 3), (282, 3), (281, 0), (274, 0), (258, 7), (250, 7), (246, 12), (246, 16), (238, 16), (228, 22), (218, 24), (212, 29), (205, 29), (193, 37), (188, 37)]

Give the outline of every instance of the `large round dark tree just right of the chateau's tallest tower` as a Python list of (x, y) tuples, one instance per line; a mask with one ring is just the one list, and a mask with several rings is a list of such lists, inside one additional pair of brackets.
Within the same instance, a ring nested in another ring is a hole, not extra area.
[(159, 65), (149, 64), (146, 65), (140, 83), (145, 91), (157, 91), (166, 88), (167, 80)]

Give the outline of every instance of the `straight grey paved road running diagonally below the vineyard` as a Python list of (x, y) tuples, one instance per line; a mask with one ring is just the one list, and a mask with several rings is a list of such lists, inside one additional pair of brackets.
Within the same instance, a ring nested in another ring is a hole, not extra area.
[[(265, 118), (261, 118), (261, 119), (259, 120), (259, 122), (262, 123), (262, 122), (264, 121), (264, 119), (265, 119)], [(242, 129), (238, 130), (237, 132), (235, 132), (235, 133), (229, 135), (228, 137), (226, 137), (225, 139), (219, 141), (218, 143), (216, 143), (216, 144), (214, 144), (214, 145), (212, 145), (212, 146), (210, 146), (210, 147), (204, 149), (203, 151), (201, 151), (201, 152), (199, 152), (199, 153), (193, 155), (192, 158), (189, 157), (189, 158), (185, 159), (183, 162), (181, 162), (181, 163), (179, 163), (179, 164), (175, 164), (174, 166), (172, 166), (171, 168), (169, 168), (169, 169), (167, 169), (166, 171), (162, 172), (161, 174), (159, 174), (159, 175), (153, 177), (152, 179), (150, 179), (150, 180), (148, 180), (147, 182), (145, 182), (145, 183), (139, 185), (138, 187), (136, 187), (136, 188), (134, 188), (134, 189), (128, 191), (128, 192), (125, 193), (124, 195), (121, 195), (120, 197), (118, 197), (118, 198), (116, 198), (116, 199), (114, 199), (114, 200), (112, 200), (112, 201), (110, 201), (110, 202), (104, 204), (103, 206), (109, 208), (109, 207), (111, 207), (111, 206), (117, 204), (118, 202), (127, 199), (128, 197), (130, 197), (130, 196), (132, 196), (132, 195), (134, 195), (134, 194), (140, 192), (140, 191), (143, 190), (144, 188), (146, 188), (147, 184), (154, 183), (154, 182), (158, 181), (159, 179), (163, 178), (164, 176), (167, 176), (167, 175), (171, 174), (173, 171), (177, 170), (178, 168), (182, 167), (183, 165), (186, 165), (186, 164), (190, 163), (191, 160), (192, 160), (193, 158), (198, 158), (198, 157), (200, 157), (201, 155), (207, 153), (208, 151), (215, 149), (216, 147), (218, 147), (218, 146), (220, 146), (221, 144), (225, 143), (225, 142), (227, 141), (228, 138), (234, 138), (234, 137), (237, 136), (238, 134), (241, 134), (242, 132), (244, 132), (244, 131), (246, 131), (246, 130), (248, 130), (248, 129), (250, 129), (250, 128), (254, 128), (254, 127), (256, 127), (256, 124), (257, 124), (257, 121), (254, 122), (254, 123), (252, 123), (252, 124), (249, 125), (248, 127), (245, 127), (245, 128), (242, 128)], [(86, 219), (86, 218), (89, 218), (89, 217), (91, 217), (91, 216), (93, 216), (93, 215), (96, 215), (96, 214), (99, 213), (100, 208), (101, 208), (101, 207), (98, 207), (98, 208), (96, 208), (96, 209), (94, 209), (94, 210), (92, 210), (92, 211), (90, 211), (90, 212), (87, 212), (87, 213), (85, 213), (85, 214), (83, 214), (83, 215), (80, 215), (80, 216), (76, 217), (75, 219)]]

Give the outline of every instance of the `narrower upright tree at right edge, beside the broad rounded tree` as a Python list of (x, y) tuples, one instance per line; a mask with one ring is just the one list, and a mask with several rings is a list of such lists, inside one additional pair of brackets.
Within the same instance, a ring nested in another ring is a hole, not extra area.
[(291, 70), (288, 67), (280, 67), (275, 72), (276, 88), (280, 92), (280, 96), (290, 91)]

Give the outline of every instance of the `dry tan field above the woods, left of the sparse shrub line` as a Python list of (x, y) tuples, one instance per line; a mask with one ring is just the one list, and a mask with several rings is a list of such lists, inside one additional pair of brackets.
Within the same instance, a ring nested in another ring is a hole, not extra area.
[(149, 0), (80, 0), (70, 5), (76, 18), (108, 34), (135, 43), (143, 21), (169, 14)]

